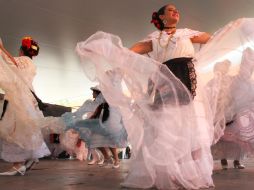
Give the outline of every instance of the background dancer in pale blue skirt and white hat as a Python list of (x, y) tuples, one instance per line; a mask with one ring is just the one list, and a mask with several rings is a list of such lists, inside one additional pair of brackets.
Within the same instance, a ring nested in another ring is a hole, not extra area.
[[(101, 94), (98, 88), (91, 89)], [(117, 148), (127, 147), (127, 133), (123, 126), (119, 110), (110, 106), (105, 102), (104, 98), (102, 100), (103, 102), (100, 102), (88, 119), (69, 123), (67, 129), (74, 129), (77, 131), (80, 134), (80, 138), (85, 141), (90, 150), (95, 151), (95, 148), (99, 148), (106, 161), (110, 159), (106, 150), (106, 148), (109, 148), (114, 159), (113, 168), (118, 168), (120, 165)], [(95, 153), (93, 155), (96, 156)], [(96, 160), (98, 160), (98, 158), (91, 163), (89, 162), (89, 164), (94, 164)], [(100, 160), (98, 160), (98, 162), (100, 162)], [(101, 161), (101, 164), (102, 163), (103, 161)]]

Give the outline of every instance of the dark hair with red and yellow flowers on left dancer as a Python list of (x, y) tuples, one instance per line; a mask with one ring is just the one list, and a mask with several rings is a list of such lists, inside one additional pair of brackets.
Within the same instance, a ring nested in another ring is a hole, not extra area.
[(22, 44), (20, 50), (24, 53), (25, 56), (32, 57), (37, 56), (40, 50), (40, 47), (36, 41), (31, 37), (22, 38)]

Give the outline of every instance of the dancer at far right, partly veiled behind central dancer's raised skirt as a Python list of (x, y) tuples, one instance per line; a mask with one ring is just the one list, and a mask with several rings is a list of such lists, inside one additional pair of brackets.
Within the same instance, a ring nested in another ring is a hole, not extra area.
[[(239, 72), (236, 75), (229, 73), (229, 61), (217, 63), (216, 77), (208, 83), (219, 83), (219, 96), (216, 105), (216, 115), (225, 118), (226, 128), (224, 135), (212, 147), (214, 159), (221, 159), (223, 169), (228, 168), (227, 159), (232, 159), (234, 168), (244, 169), (240, 159), (249, 154), (253, 155), (253, 88), (251, 79), (253, 73), (254, 51), (247, 48), (243, 51)], [(217, 85), (218, 86), (218, 85)], [(213, 94), (214, 92), (209, 92)], [(225, 101), (224, 97), (227, 97)]]

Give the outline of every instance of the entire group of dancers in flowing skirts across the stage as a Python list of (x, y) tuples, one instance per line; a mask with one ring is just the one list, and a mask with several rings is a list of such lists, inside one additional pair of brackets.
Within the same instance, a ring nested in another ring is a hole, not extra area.
[[(157, 31), (130, 49), (104, 32), (79, 42), (84, 72), (99, 85), (91, 88), (94, 101), (61, 116), (45, 117), (32, 87), (38, 44), (23, 39), (18, 58), (1, 45), (7, 102), (1, 155), (13, 167), (0, 175), (24, 174), (48, 155), (50, 133), (59, 133), (61, 145), (80, 159), (90, 152), (90, 164), (111, 160), (114, 168), (117, 148), (130, 143), (125, 187), (213, 187), (213, 158), (224, 169), (227, 159), (243, 169), (240, 159), (253, 154), (254, 19), (232, 21), (209, 35), (178, 29), (179, 18), (174, 5), (163, 6), (152, 14)], [(195, 51), (194, 43), (202, 48)]]

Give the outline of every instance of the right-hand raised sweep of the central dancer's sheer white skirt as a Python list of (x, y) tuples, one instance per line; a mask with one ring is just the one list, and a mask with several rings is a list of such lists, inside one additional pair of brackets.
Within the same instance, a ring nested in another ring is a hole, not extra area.
[(227, 122), (253, 99), (254, 19), (241, 18), (217, 31), (196, 54), (198, 81), (205, 88), (215, 126), (214, 143)]

